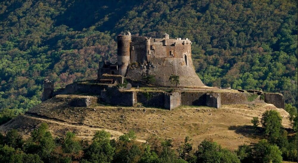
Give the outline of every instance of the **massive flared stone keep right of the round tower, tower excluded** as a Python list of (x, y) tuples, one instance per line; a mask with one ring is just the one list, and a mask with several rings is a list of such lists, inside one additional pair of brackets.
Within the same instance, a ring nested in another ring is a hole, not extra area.
[(128, 78), (142, 80), (151, 74), (156, 79), (154, 85), (175, 86), (169, 81), (174, 74), (179, 76), (179, 86), (205, 86), (193, 68), (190, 40), (133, 37), (130, 58), (134, 66), (128, 66)]

